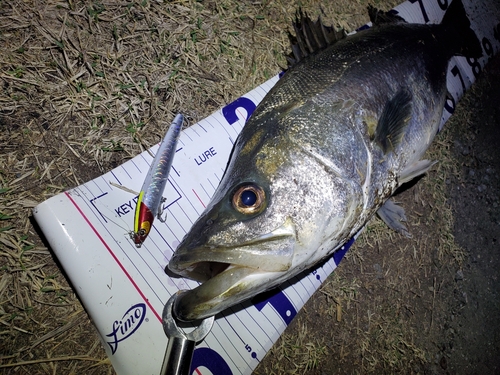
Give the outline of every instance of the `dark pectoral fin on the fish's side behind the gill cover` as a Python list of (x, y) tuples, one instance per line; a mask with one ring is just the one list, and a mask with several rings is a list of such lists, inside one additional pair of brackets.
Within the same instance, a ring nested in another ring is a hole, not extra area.
[(391, 100), (385, 103), (374, 134), (374, 141), (384, 151), (384, 154), (394, 151), (401, 143), (411, 117), (411, 101), (411, 92), (402, 88)]

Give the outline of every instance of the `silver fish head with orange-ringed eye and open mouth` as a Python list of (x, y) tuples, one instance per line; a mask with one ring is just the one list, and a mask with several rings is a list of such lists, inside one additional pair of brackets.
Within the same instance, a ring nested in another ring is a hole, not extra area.
[(245, 129), (211, 202), (168, 265), (202, 283), (174, 304), (184, 321), (215, 315), (279, 285), (345, 237), (337, 233), (339, 240), (325, 245), (325, 233), (342, 232), (352, 214), (349, 183), (290, 137)]

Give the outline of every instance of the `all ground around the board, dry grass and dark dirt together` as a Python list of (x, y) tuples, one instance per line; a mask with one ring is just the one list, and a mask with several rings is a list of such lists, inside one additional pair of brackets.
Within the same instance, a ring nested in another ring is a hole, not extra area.
[[(113, 373), (31, 209), (276, 74), (299, 5), (368, 20), (320, 3), (0, 2), (0, 373)], [(256, 374), (500, 374), (499, 105), (496, 58), (397, 196), (412, 238), (373, 220)]]

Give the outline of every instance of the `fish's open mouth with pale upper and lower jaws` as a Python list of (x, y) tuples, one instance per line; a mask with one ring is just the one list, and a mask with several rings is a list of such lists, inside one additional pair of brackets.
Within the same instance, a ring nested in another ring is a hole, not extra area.
[(237, 246), (193, 249), (183, 241), (168, 267), (202, 284), (177, 298), (174, 315), (182, 321), (204, 319), (274, 287), (292, 266), (295, 238), (287, 219), (272, 232)]

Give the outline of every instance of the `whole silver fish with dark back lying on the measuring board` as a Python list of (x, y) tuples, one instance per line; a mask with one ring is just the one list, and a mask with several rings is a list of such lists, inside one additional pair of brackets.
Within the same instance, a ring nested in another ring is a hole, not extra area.
[[(210, 203), (169, 261), (200, 282), (174, 304), (216, 315), (330, 257), (376, 214), (406, 232), (390, 200), (434, 164), (449, 60), (479, 58), (460, 0), (439, 24), (369, 7), (373, 27), (343, 37), (298, 22), (295, 63), (236, 139)], [(299, 24), (300, 23), (300, 24)]]

